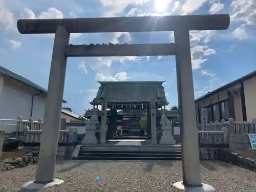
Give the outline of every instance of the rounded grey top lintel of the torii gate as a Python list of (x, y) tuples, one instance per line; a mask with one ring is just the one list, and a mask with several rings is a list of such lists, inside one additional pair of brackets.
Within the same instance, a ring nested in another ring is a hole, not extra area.
[(58, 26), (70, 33), (101, 32), (150, 32), (175, 30), (226, 30), (229, 27), (228, 14), (180, 15), (144, 17), (98, 17), (64, 19), (19, 19), (21, 34), (55, 33)]

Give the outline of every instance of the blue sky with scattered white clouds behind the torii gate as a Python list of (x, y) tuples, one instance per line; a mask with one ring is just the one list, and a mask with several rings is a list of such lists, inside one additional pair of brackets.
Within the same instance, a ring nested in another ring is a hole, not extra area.
[[(253, 4), (254, 2), (254, 4)], [(190, 32), (195, 97), (256, 70), (255, 0), (0, 0), (0, 65), (47, 88), (53, 35), (22, 35), (19, 18), (181, 14), (231, 16), (226, 31)], [(72, 34), (71, 44), (172, 42), (172, 32)], [(97, 80), (166, 80), (169, 107), (177, 104), (174, 56), (69, 58), (64, 99), (78, 114), (92, 106)]]

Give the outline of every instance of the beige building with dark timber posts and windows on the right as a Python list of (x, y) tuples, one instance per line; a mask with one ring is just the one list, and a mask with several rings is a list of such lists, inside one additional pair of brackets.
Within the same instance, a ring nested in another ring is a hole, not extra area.
[(207, 121), (232, 117), (236, 121), (252, 121), (256, 117), (256, 71), (195, 100), (197, 122), (201, 123), (201, 109), (207, 110)]

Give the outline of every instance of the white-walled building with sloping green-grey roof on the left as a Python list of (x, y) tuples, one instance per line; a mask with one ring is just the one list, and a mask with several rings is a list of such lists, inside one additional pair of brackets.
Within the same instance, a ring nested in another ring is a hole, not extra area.
[(44, 119), (46, 95), (44, 88), (0, 66), (0, 119)]

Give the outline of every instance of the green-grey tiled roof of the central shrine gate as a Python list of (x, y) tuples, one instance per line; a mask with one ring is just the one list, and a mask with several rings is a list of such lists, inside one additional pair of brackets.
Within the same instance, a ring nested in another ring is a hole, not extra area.
[(112, 103), (150, 102), (160, 100), (167, 105), (165, 81), (98, 81), (100, 87), (91, 104), (100, 104), (103, 98)]

